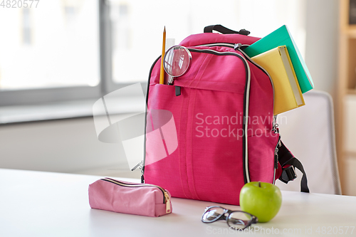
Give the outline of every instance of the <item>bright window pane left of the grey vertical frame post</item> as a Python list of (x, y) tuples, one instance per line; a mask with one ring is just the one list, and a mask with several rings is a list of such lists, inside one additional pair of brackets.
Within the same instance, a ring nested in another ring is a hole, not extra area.
[(98, 1), (0, 9), (0, 105), (100, 95)]

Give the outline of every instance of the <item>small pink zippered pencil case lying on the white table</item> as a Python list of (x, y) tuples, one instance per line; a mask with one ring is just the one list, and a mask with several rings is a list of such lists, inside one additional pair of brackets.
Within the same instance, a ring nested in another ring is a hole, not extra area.
[(92, 209), (141, 216), (163, 216), (172, 212), (169, 191), (153, 184), (135, 184), (105, 178), (89, 185)]

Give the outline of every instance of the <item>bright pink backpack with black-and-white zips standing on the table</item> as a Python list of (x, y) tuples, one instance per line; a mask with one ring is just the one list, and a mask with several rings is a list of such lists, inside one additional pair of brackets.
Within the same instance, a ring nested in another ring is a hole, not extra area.
[[(242, 51), (259, 38), (220, 25), (204, 32), (179, 44), (189, 49), (192, 62), (174, 85), (159, 84), (160, 57), (152, 65), (142, 181), (174, 197), (239, 205), (247, 182), (288, 182), (294, 167), (303, 167), (278, 134), (271, 78)], [(172, 120), (155, 116), (160, 110)], [(302, 191), (308, 191), (303, 174)]]

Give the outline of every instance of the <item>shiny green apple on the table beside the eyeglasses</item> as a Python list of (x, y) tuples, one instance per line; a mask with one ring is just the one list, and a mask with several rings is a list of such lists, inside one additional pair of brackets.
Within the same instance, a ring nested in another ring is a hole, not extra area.
[(274, 184), (253, 181), (241, 189), (241, 210), (256, 216), (258, 222), (270, 221), (278, 213), (281, 204), (281, 191)]

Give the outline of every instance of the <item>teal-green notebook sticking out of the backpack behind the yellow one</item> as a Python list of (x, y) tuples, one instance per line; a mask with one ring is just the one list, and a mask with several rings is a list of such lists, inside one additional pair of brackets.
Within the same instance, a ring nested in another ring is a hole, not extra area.
[(276, 31), (268, 34), (261, 38), (259, 41), (251, 44), (244, 49), (244, 52), (252, 58), (260, 53), (269, 51), (278, 46), (287, 46), (287, 50), (290, 56), (290, 60), (292, 60), (293, 68), (295, 70), (295, 74), (298, 78), (298, 83), (300, 85), (300, 90), (302, 93), (306, 93), (308, 90), (314, 88), (313, 80), (310, 76), (307, 65), (300, 55), (297, 45), (295, 44), (292, 36), (286, 25), (281, 26)]

